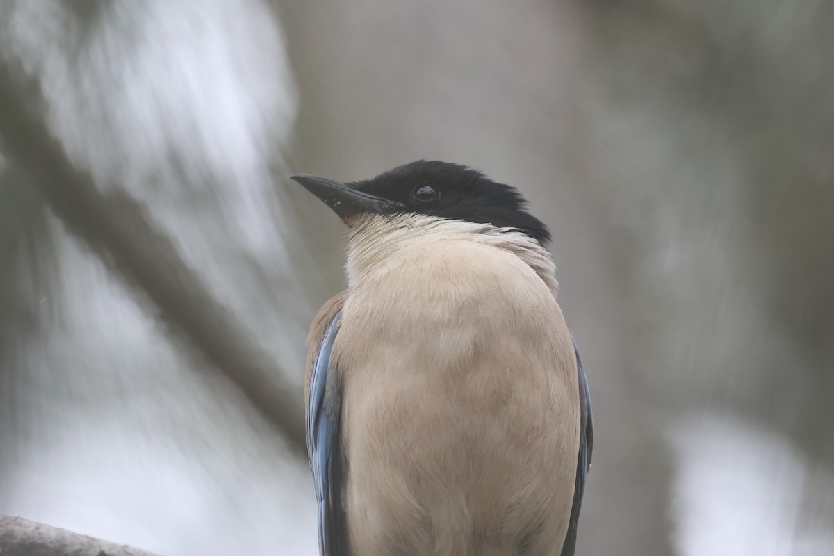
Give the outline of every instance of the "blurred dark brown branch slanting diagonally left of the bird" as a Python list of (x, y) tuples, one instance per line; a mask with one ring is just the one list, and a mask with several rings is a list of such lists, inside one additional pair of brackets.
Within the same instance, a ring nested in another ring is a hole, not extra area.
[(144, 293), (174, 333), (229, 378), (284, 433), (291, 448), (303, 453), (300, 393), (213, 298), (141, 203), (123, 188), (103, 193), (88, 173), (73, 166), (49, 133), (44, 105), (37, 83), (0, 57), (0, 138), (10, 162), (28, 173), (69, 231)]

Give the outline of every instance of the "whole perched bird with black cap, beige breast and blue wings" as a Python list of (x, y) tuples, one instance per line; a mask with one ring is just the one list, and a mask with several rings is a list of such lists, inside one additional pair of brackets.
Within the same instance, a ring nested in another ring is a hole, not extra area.
[(291, 178), (348, 230), (308, 337), (320, 556), (572, 556), (593, 419), (548, 228), (460, 164)]

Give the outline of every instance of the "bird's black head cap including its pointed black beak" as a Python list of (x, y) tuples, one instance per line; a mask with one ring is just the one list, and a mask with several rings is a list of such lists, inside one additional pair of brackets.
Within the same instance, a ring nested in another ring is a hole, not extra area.
[(547, 227), (527, 213), (518, 190), (459, 164), (419, 160), (347, 184), (304, 174), (293, 179), (342, 218), (360, 212), (420, 213), (516, 228), (541, 245), (550, 241)]

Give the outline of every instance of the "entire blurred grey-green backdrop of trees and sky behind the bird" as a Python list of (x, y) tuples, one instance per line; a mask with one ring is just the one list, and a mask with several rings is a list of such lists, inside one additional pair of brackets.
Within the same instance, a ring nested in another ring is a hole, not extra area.
[(294, 172), (520, 188), (593, 395), (577, 554), (834, 554), (834, 4), (7, 0), (0, 513), (316, 553)]

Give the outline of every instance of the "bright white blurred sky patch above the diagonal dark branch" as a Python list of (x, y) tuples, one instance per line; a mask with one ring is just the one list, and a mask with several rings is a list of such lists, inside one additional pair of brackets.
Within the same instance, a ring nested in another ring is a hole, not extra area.
[(264, 310), (304, 298), (285, 264), (294, 220), (269, 174), (297, 112), (273, 14), (259, 0), (99, 6), (90, 28), (48, 0), (13, 12), (9, 34), (42, 76), (53, 128), (101, 188), (118, 184), (147, 203), (261, 347), (299, 368), (304, 327)]

